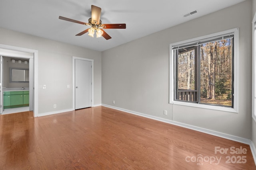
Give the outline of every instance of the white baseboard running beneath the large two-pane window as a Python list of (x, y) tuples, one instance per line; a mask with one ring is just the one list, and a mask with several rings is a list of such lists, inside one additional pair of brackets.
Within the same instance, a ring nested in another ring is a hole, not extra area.
[(130, 111), (130, 110), (127, 110), (127, 109), (122, 109), (122, 108), (119, 108), (119, 107), (109, 106), (109, 105), (106, 105), (106, 104), (102, 104), (102, 106), (109, 107), (109, 108), (116, 109), (116, 110), (120, 110), (120, 111), (124, 111), (126, 113), (132, 113), (134, 115), (147, 117), (149, 119), (154, 119), (154, 120), (157, 120), (157, 121), (170, 123), (172, 125), (185, 127), (185, 128), (192, 129), (192, 130), (195, 130), (195, 131), (200, 131), (202, 133), (207, 133), (207, 134), (214, 135), (214, 136), (217, 136), (217, 137), (222, 137), (224, 139), (229, 139), (229, 140), (232, 140), (232, 141), (236, 141), (236, 142), (240, 142), (240, 143), (250, 145), (250, 149), (252, 151), (252, 156), (254, 158), (254, 162), (256, 163), (256, 148), (254, 146), (254, 143), (250, 139), (245, 139), (245, 138), (242, 138), (242, 137), (228, 135), (226, 133), (212, 131), (212, 130), (209, 130), (209, 129), (204, 129), (204, 128), (201, 128), (201, 127), (196, 127), (196, 126), (188, 125), (188, 124), (185, 124), (185, 123), (180, 123), (180, 122), (177, 122), (177, 121), (171, 121), (171, 120), (163, 119), (163, 118), (156, 117), (156, 116), (146, 115), (144, 113), (139, 113), (139, 112), (136, 112), (136, 111)]

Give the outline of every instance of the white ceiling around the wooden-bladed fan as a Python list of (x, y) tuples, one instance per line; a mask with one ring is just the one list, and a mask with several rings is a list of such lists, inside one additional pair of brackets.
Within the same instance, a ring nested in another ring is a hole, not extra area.
[[(78, 45), (96, 51), (144, 37), (238, 4), (244, 0), (1, 0), (0, 27)], [(59, 16), (88, 23), (91, 5), (102, 8), (102, 23), (126, 23), (126, 29), (105, 29), (112, 37), (75, 36), (86, 25), (59, 20)], [(197, 10), (196, 14), (183, 17)]]

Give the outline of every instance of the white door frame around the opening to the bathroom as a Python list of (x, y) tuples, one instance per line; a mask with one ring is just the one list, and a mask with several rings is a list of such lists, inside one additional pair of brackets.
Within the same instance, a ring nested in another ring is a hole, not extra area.
[[(17, 54), (15, 51), (32, 53), (33, 55)], [(29, 59), (29, 110), (33, 110), (33, 116), (38, 117), (38, 88), (35, 88), (38, 87), (38, 50), (0, 44), (0, 55)]]

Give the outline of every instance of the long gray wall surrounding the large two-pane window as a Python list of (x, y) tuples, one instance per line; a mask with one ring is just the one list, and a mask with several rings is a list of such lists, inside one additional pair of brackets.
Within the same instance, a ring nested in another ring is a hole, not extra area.
[[(246, 139), (252, 136), (252, 1), (102, 52), (102, 104)], [(239, 27), (239, 113), (168, 104), (169, 45)], [(113, 104), (115, 100), (115, 104)], [(168, 115), (164, 115), (164, 110)]]

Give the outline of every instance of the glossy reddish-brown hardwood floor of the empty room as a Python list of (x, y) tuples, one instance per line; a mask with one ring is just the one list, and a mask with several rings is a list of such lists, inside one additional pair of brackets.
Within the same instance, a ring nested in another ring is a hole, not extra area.
[(248, 145), (103, 106), (0, 128), (1, 170), (256, 170)]

